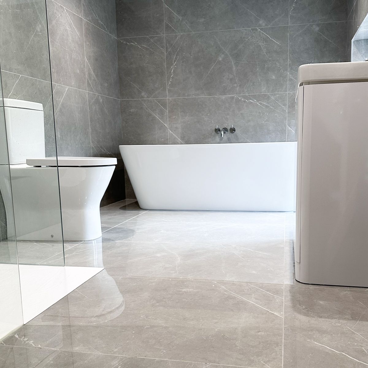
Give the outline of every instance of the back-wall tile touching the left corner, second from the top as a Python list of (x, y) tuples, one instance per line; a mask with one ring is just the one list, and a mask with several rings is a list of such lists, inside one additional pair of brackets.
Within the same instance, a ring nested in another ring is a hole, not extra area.
[(164, 36), (118, 39), (122, 99), (166, 98)]

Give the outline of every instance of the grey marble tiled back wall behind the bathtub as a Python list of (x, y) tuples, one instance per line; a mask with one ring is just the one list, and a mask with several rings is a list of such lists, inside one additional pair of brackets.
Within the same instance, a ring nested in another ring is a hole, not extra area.
[[(346, 0), (116, 0), (123, 144), (294, 141), (300, 64), (346, 60)], [(234, 124), (235, 134), (214, 133)]]

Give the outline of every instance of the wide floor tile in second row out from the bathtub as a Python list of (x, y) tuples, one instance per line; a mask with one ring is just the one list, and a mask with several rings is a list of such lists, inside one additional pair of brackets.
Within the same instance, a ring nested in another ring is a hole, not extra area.
[[(77, 248), (81, 248), (81, 245), (66, 251), (66, 260), (67, 254)], [(292, 248), (288, 249), (293, 251)], [(246, 242), (243, 246), (234, 246), (104, 241), (102, 252), (103, 266), (111, 276), (282, 284), (285, 273), (288, 283), (293, 280), (292, 254), (290, 261), (288, 251), (289, 258), (284, 266), (284, 248), (277, 246), (252, 247)]]

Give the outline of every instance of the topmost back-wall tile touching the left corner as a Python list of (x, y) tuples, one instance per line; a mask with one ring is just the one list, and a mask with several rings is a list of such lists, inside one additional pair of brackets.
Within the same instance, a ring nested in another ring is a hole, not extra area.
[(116, 0), (117, 37), (164, 34), (162, 0)]

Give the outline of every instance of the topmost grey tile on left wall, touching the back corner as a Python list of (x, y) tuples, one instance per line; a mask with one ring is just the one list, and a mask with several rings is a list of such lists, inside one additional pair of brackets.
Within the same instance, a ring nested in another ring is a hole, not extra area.
[(115, 0), (82, 0), (83, 18), (116, 37)]

